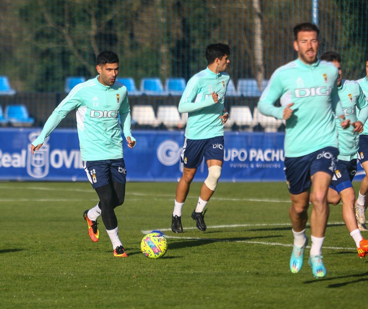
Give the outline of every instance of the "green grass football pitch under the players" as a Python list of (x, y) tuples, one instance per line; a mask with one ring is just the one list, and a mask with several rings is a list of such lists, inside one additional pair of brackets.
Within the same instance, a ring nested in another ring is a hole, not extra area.
[[(284, 183), (220, 183), (205, 232), (190, 218), (200, 186), (191, 185), (184, 233), (174, 234), (176, 183), (128, 183), (116, 209), (128, 257), (114, 258), (102, 220), (99, 242), (88, 237), (82, 214), (97, 202), (89, 183), (1, 182), (0, 308), (356, 308), (364, 299), (368, 259), (358, 258), (341, 204), (330, 207), (327, 276), (317, 280), (309, 249), (290, 273)], [(156, 229), (169, 249), (148, 259), (140, 242)]]

